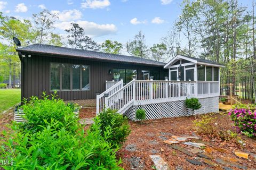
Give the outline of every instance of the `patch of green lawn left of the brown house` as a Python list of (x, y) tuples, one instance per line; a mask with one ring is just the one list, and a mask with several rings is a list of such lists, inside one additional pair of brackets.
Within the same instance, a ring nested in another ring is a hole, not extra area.
[(20, 103), (20, 89), (0, 89), (0, 113)]

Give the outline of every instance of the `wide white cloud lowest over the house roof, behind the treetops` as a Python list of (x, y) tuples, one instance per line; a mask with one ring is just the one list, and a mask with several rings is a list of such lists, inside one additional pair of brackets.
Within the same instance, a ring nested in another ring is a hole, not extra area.
[[(70, 21), (74, 22), (74, 21)], [(59, 22), (55, 23), (55, 27), (65, 30), (70, 28), (70, 22)], [(85, 35), (89, 37), (100, 37), (105, 35), (110, 35), (117, 32), (117, 27), (115, 24), (98, 24), (95, 22), (89, 22), (89, 21), (77, 21), (84, 29)]]

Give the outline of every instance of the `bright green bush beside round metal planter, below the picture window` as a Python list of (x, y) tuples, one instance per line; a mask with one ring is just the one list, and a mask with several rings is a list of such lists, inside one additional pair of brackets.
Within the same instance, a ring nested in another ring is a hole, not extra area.
[(52, 119), (60, 122), (59, 129), (66, 125), (71, 127), (70, 124), (76, 119), (73, 108), (66, 106), (63, 100), (56, 99), (56, 92), (51, 99), (43, 92), (42, 98), (31, 97), (29, 102), (27, 100), (23, 102), (20, 109), (23, 110), (27, 122), (20, 123), (20, 128), (34, 133), (42, 130)]

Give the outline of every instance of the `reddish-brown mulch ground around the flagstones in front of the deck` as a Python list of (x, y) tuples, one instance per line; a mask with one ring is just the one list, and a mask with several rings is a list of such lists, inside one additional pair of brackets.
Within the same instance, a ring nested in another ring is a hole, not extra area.
[[(223, 117), (220, 114), (215, 114), (215, 116), (218, 117), (217, 122), (222, 128), (227, 130), (232, 129), (232, 123), (229, 120), (228, 115), (224, 115)], [(191, 153), (193, 157), (188, 156), (179, 150), (173, 149), (170, 147), (170, 145), (163, 143), (164, 140), (170, 139), (171, 135), (180, 137), (193, 136), (193, 134), (195, 135), (194, 125), (192, 122), (193, 120), (195, 120), (194, 116), (150, 120), (143, 124), (137, 122), (129, 122), (132, 132), (129, 135), (127, 141), (124, 143), (124, 146), (117, 153), (117, 156), (121, 157), (123, 160), (121, 166), (124, 169), (153, 169), (153, 162), (151, 161), (149, 155), (160, 155), (169, 164), (171, 169), (209, 168), (209, 166), (204, 163), (201, 166), (197, 166), (186, 161), (186, 158), (193, 159), (197, 157), (197, 155)], [(225, 150), (221, 150), (224, 152), (217, 150), (212, 151), (211, 156), (214, 158), (212, 161), (217, 163), (215, 162), (215, 158), (236, 158), (234, 154), (235, 150), (242, 151), (246, 149), (250, 152), (253, 152), (254, 154), (256, 153), (256, 140), (247, 138), (244, 135), (239, 136), (242, 137), (243, 142), (246, 144), (245, 146), (239, 145), (233, 140), (222, 141), (219, 138), (209, 136), (202, 136), (202, 140), (210, 142), (212, 147)], [(183, 145), (181, 143), (179, 143), (178, 146), (188, 150), (193, 149), (193, 147), (188, 147), (187, 145)], [(132, 149), (129, 149), (131, 147)], [(256, 160), (247, 160), (244, 158), (237, 159), (239, 160), (240, 164), (244, 164), (248, 168), (255, 168)], [(253, 158), (249, 157), (249, 159)], [(238, 168), (232, 167), (232, 169)]]

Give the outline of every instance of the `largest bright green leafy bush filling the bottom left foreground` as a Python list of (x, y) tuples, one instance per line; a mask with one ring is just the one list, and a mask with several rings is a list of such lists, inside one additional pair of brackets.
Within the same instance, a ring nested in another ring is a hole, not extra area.
[[(67, 126), (58, 120), (45, 121), (41, 131), (29, 133), (13, 126), (11, 138), (5, 134), (6, 142), (2, 146), (4, 159), (12, 160), (12, 166), (5, 169), (122, 169), (121, 160), (116, 159), (116, 149), (106, 142), (112, 134), (106, 127), (102, 137), (99, 118), (85, 135), (81, 125), (72, 124), (77, 133), (70, 132)], [(13, 142), (15, 141), (15, 142)]]

